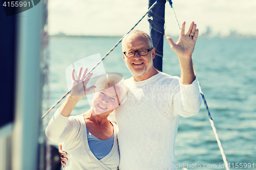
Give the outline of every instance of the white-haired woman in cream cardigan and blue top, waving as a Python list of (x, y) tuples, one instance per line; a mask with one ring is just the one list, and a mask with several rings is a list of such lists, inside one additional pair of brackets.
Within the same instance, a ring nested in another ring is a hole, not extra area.
[[(117, 169), (119, 149), (116, 125), (109, 114), (124, 102), (126, 89), (120, 76), (107, 74), (98, 78), (96, 86), (86, 88), (92, 74), (79, 69), (77, 79), (72, 71), (71, 95), (51, 118), (46, 136), (53, 142), (62, 142), (68, 152), (64, 169)], [(84, 80), (84, 81), (83, 81)], [(84, 114), (70, 116), (77, 102), (94, 89), (91, 109)]]

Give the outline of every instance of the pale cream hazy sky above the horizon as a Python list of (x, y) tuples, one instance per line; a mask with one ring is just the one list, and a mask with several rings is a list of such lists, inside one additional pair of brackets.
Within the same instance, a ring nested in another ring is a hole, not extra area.
[[(123, 36), (146, 13), (147, 0), (49, 0), (50, 35)], [(256, 35), (255, 0), (173, 0), (180, 25), (197, 23), (199, 35), (210, 27), (213, 34), (236, 31)], [(186, 27), (187, 28), (187, 27)], [(136, 27), (148, 33), (146, 17)], [(165, 5), (165, 34), (178, 36), (179, 30), (168, 3)]]

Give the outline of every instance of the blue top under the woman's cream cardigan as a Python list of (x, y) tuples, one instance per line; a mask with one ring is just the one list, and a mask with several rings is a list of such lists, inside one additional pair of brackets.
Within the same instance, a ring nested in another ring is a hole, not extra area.
[(87, 130), (87, 138), (88, 138), (88, 144), (89, 148), (94, 154), (94, 156), (100, 160), (104, 158), (106, 155), (108, 155), (113, 147), (114, 144), (114, 133), (113, 135), (106, 140), (100, 140), (97, 137), (93, 136), (88, 128), (86, 127)]

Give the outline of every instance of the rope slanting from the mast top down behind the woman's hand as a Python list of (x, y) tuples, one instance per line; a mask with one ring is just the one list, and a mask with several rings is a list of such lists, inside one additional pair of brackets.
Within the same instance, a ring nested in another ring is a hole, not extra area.
[[(141, 19), (135, 24), (135, 26), (129, 31), (129, 32), (127, 32), (125, 35), (127, 35), (127, 34), (129, 34), (137, 25), (138, 25), (138, 23), (146, 16), (146, 14), (148, 13), (148, 12), (150, 12), (150, 10), (153, 8), (153, 7), (155, 7), (155, 5), (157, 4), (157, 2), (155, 2), (148, 10), (147, 10), (147, 12), (145, 13), (145, 15), (143, 15), (142, 17), (141, 17)], [(124, 35), (124, 36), (125, 36)], [(117, 45), (118, 44), (120, 44), (120, 42), (122, 42), (122, 39), (124, 38), (124, 36), (116, 43), (116, 45), (113, 47), (113, 48), (111, 48), (111, 50), (104, 56), (104, 57), (102, 57), (102, 59), (86, 74), (86, 77), (84, 78), (84, 79), (86, 79), (87, 78), (87, 76), (106, 58), (106, 57), (108, 57), (108, 55), (117, 47)], [(71, 90), (70, 91), (68, 91), (66, 94), (64, 94), (63, 96), (62, 96), (62, 98), (60, 98), (59, 100), (58, 100), (58, 102), (57, 103), (55, 103), (47, 112), (46, 112), (46, 114), (44, 114), (41, 118), (42, 119), (44, 119), (64, 98), (66, 98), (66, 96), (69, 94), (71, 92)]]

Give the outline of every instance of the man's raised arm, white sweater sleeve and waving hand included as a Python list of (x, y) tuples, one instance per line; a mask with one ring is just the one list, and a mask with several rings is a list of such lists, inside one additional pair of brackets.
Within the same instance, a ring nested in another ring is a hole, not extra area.
[(181, 65), (180, 88), (175, 92), (176, 95), (181, 96), (181, 100), (174, 101), (174, 108), (183, 117), (197, 114), (202, 103), (198, 82), (195, 81), (196, 75), (192, 61), (198, 32), (197, 25), (191, 22), (185, 34), (185, 22), (183, 22), (180, 37), (176, 43), (172, 38), (166, 37), (170, 47), (177, 54)]

